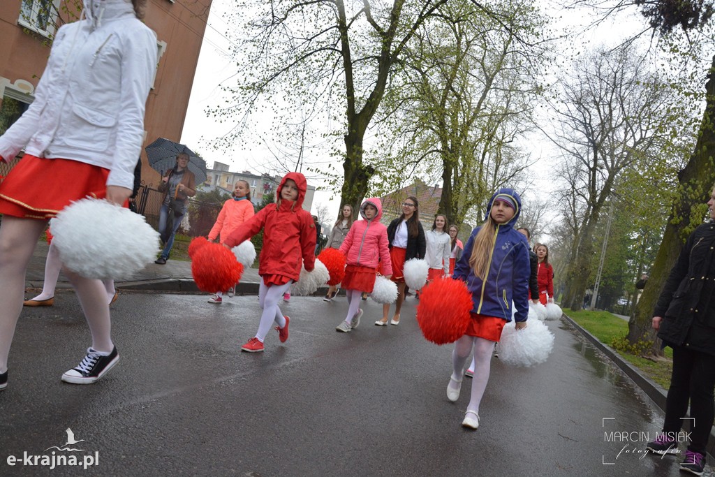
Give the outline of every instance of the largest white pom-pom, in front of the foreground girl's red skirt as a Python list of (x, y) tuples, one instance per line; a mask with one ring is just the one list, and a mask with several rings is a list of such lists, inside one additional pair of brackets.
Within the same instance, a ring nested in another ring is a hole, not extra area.
[(87, 278), (127, 280), (159, 250), (159, 232), (142, 215), (107, 200), (72, 202), (50, 228), (62, 263)]

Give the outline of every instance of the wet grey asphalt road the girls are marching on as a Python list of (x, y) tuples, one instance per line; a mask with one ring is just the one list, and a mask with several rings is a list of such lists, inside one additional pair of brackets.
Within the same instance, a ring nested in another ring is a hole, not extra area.
[[(675, 458), (642, 453), (659, 411), (561, 321), (548, 323), (547, 363), (493, 360), (472, 432), (460, 426), (470, 381), (448, 402), (452, 347), (422, 338), (414, 298), (397, 327), (373, 325), (381, 307), (363, 302), (360, 328), (343, 334), (345, 297), (293, 297), (287, 343), (272, 331), (265, 353), (249, 354), (240, 345), (257, 328), (257, 297), (207, 297), (120, 295), (122, 360), (87, 386), (59, 380), (91, 344), (74, 294), (26, 308), (0, 393), (0, 476), (683, 475)], [(98, 455), (97, 466), (22, 463), (62, 447), (66, 428), (84, 439), (74, 455)]]

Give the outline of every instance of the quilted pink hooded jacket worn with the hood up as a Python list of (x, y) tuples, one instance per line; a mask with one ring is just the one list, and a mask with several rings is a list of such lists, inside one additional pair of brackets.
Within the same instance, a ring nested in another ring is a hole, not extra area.
[[(377, 215), (372, 220), (365, 218), (365, 205), (368, 204), (378, 209)], [(366, 199), (363, 205), (360, 205), (360, 215), (364, 220), (352, 222), (352, 227), (340, 245), (340, 252), (347, 257), (347, 265), (378, 268), (382, 260), (385, 275), (392, 275), (388, 227), (380, 223), (380, 217), (383, 216), (383, 203), (378, 198)]]

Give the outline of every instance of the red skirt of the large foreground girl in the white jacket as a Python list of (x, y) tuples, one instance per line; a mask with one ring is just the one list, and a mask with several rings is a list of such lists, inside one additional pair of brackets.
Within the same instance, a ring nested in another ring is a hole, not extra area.
[(109, 169), (25, 154), (0, 183), (0, 214), (50, 219), (75, 200), (107, 196)]

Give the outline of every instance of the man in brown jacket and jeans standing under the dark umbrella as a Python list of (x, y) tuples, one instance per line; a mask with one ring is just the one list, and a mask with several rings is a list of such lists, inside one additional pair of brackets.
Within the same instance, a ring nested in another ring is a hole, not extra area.
[(196, 177), (188, 166), (189, 154), (179, 152), (176, 165), (169, 169), (169, 173), (162, 177), (162, 183), (159, 184), (159, 192), (164, 192), (162, 208), (159, 210), (159, 234), (164, 242), (164, 250), (162, 256), (154, 262), (159, 265), (164, 265), (169, 260), (174, 235), (187, 211), (187, 200), (196, 195)]

